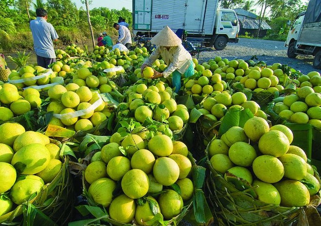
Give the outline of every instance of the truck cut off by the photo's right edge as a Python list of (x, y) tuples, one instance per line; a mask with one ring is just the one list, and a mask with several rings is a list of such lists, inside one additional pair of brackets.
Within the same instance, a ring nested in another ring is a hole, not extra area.
[(295, 18), (285, 46), (289, 58), (313, 55), (313, 66), (321, 68), (321, 0), (310, 0), (306, 11)]

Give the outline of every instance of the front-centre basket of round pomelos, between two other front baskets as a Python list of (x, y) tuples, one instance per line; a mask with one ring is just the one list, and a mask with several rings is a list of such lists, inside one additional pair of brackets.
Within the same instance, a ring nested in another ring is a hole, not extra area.
[[(89, 136), (92, 141), (100, 139)], [(205, 200), (199, 195), (205, 168), (196, 166), (182, 142), (164, 134), (149, 141), (136, 134), (106, 141), (83, 162), (87, 165), (82, 174), (83, 196), (88, 205), (76, 209), (86, 220), (72, 225), (176, 225), (193, 208), (194, 200)], [(196, 210), (204, 216), (204, 205)], [(196, 216), (205, 223), (204, 217)]]

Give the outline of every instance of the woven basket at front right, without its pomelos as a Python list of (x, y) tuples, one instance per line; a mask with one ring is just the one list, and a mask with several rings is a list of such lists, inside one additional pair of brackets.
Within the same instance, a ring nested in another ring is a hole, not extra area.
[[(207, 150), (206, 150), (206, 154)], [(206, 193), (219, 226), (300, 226), (320, 225), (320, 215), (316, 207), (320, 204), (320, 191), (311, 196), (310, 204), (305, 207), (281, 207), (254, 199), (249, 192), (237, 190), (231, 183), (212, 167), (207, 158), (210, 172), (206, 181)], [(319, 174), (314, 175), (319, 181)], [(316, 217), (314, 220), (313, 218)], [(309, 224), (307, 223), (309, 222)], [(316, 223), (318, 222), (318, 223)]]

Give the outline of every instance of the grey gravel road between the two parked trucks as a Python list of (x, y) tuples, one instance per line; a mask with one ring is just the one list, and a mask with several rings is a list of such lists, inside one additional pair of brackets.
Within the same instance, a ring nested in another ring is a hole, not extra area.
[[(296, 59), (290, 59), (286, 55), (287, 47), (284, 42), (240, 38), (239, 43), (228, 43), (223, 50), (209, 48), (209, 51), (199, 53), (198, 61), (201, 63), (214, 59), (215, 56), (222, 58), (250, 60), (256, 55), (259, 61), (265, 61), (267, 65), (281, 63), (307, 74), (310, 71), (319, 71), (313, 68), (313, 56), (297, 56)], [(197, 55), (196, 55), (197, 56)]]

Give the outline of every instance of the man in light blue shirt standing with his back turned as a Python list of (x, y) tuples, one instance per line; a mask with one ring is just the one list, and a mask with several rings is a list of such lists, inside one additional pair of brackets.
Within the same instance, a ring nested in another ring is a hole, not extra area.
[(56, 61), (53, 40), (58, 40), (58, 34), (53, 25), (47, 22), (48, 13), (45, 9), (36, 9), (36, 16), (36, 19), (30, 21), (30, 29), (34, 39), (37, 64), (48, 68), (48, 65)]

